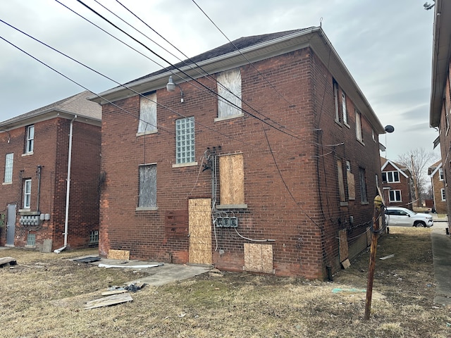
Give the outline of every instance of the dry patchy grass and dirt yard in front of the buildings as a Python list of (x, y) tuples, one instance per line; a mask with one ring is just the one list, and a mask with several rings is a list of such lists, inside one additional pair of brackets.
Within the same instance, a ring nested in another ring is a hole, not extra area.
[(85, 310), (142, 273), (68, 258), (96, 251), (0, 250), (0, 337), (451, 337), (451, 308), (434, 304), (431, 230), (390, 228), (378, 241), (371, 319), (369, 251), (333, 282), (250, 273), (200, 275)]

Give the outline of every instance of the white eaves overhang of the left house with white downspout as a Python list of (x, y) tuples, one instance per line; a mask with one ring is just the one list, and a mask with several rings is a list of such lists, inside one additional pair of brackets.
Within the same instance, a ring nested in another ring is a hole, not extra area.
[(89, 116), (72, 113), (70, 111), (64, 111), (63, 109), (49, 109), (48, 111), (39, 111), (35, 115), (27, 115), (21, 119), (12, 119), (0, 123), (0, 130), (11, 131), (18, 127), (24, 127), (25, 125), (33, 125), (45, 120), (51, 120), (52, 118), (66, 118), (72, 120), (75, 115), (77, 116), (77, 122), (87, 123), (89, 125), (97, 125), (101, 127), (101, 120), (97, 118), (91, 118)]

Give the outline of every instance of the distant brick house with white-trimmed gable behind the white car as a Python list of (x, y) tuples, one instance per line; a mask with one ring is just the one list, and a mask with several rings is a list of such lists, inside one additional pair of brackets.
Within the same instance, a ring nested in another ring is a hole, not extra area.
[(403, 165), (381, 157), (382, 187), (385, 206), (413, 210), (411, 173)]

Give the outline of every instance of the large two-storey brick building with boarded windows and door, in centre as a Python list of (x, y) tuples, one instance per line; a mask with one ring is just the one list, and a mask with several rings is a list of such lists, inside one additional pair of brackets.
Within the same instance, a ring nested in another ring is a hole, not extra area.
[(102, 256), (323, 279), (368, 245), (385, 131), (321, 27), (99, 96)]

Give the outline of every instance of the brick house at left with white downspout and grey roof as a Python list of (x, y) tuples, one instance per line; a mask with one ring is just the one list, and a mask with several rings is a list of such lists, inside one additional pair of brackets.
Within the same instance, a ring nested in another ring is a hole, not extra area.
[(0, 123), (0, 245), (98, 245), (101, 107), (90, 95)]

